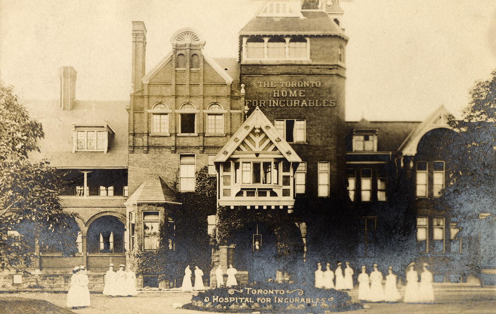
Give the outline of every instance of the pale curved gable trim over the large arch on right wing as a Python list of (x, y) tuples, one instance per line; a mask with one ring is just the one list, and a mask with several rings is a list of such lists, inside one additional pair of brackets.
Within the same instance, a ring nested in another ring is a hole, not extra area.
[(448, 116), (450, 115), (451, 113), (449, 113), (443, 105), (439, 106), (427, 119), (420, 123), (417, 128), (415, 128), (406, 137), (405, 141), (403, 141), (398, 148), (398, 151), (403, 155), (416, 155), (417, 146), (427, 132), (438, 128), (452, 130), (452, 128), (448, 125)]

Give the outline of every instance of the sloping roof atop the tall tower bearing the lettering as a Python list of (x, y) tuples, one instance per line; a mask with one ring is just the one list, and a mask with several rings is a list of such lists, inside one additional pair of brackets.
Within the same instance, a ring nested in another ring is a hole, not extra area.
[(253, 17), (240, 35), (340, 35), (344, 31), (324, 11), (302, 11), (300, 17)]

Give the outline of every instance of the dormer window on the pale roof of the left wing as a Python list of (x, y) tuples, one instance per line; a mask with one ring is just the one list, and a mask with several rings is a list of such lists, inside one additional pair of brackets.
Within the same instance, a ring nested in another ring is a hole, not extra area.
[(114, 131), (109, 126), (74, 126), (72, 152), (105, 152)]

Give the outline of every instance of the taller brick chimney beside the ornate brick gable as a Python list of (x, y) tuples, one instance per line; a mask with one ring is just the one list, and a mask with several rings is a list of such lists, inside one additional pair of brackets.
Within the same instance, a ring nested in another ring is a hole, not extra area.
[(141, 79), (145, 76), (146, 27), (143, 21), (132, 22), (132, 78), (134, 92), (143, 88)]

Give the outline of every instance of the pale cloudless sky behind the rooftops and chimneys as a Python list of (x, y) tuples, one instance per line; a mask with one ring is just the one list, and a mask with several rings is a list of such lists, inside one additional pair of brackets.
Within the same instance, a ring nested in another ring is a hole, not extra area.
[[(0, 79), (21, 99), (59, 97), (59, 68), (77, 71), (76, 99), (128, 100), (131, 21), (147, 28), (146, 70), (192, 27), (215, 58), (236, 57), (238, 31), (261, 0), (0, 0)], [(457, 115), (496, 69), (494, 0), (341, 0), (346, 119), (419, 121)]]

